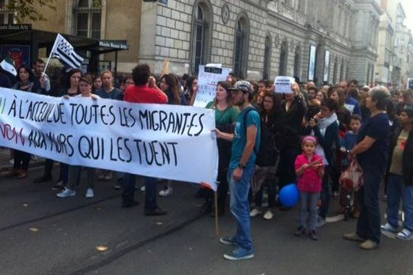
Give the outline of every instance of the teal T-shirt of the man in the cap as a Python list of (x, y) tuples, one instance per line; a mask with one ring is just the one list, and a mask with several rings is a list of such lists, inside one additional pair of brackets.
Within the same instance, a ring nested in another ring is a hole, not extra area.
[(255, 148), (253, 150), (253, 153), (251, 154), (251, 157), (248, 159), (248, 162), (246, 163), (246, 168), (251, 168), (255, 166), (255, 159), (257, 158), (256, 154), (260, 150), (260, 142), (261, 142), (260, 114), (255, 109), (253, 111), (248, 111), (248, 116), (246, 118), (246, 123), (245, 123), (244, 122), (245, 114), (248, 109), (251, 109), (251, 107), (247, 107), (244, 110), (242, 110), (242, 112), (238, 116), (237, 124), (235, 125), (234, 139), (233, 139), (233, 145), (231, 149), (231, 161), (229, 163), (229, 168), (232, 168), (232, 169), (237, 168), (238, 165), (240, 164), (242, 153), (244, 153), (244, 148), (246, 146), (246, 128), (248, 128), (248, 126), (251, 126), (251, 125), (257, 126), (257, 137), (255, 140)]

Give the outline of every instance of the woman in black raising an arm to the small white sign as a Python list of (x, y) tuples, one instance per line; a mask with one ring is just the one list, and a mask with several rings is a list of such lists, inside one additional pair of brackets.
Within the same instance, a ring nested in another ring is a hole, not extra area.
[(299, 92), (297, 83), (293, 85), (293, 94), (285, 94), (282, 104), (284, 115), (284, 146), (280, 152), (279, 161), (279, 188), (295, 182), (295, 158), (301, 152), (301, 130), (306, 104)]

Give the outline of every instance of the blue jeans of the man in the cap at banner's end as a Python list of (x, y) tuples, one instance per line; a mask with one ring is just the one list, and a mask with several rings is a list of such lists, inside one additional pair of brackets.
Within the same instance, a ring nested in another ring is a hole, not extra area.
[(235, 181), (235, 179), (233, 179), (233, 172), (235, 169), (228, 169), (228, 182), (231, 190), (230, 209), (237, 220), (235, 241), (237, 241), (240, 248), (251, 252), (253, 250), (253, 239), (251, 237), (248, 192), (254, 169), (254, 166), (245, 168), (240, 181)]

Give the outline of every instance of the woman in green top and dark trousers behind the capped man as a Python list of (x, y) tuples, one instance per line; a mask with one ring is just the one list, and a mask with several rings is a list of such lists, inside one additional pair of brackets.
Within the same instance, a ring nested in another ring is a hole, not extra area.
[[(215, 100), (207, 104), (207, 109), (215, 110), (215, 126), (224, 133), (233, 133), (235, 123), (237, 123), (240, 109), (232, 106), (232, 94), (229, 89), (231, 84), (226, 81), (220, 81), (217, 85), (217, 94)], [(225, 201), (228, 193), (228, 180), (226, 179), (226, 171), (229, 166), (231, 157), (232, 142), (224, 139), (217, 139), (218, 145), (218, 215), (224, 214)], [(213, 191), (207, 189), (204, 192), (205, 203), (201, 207), (200, 212), (203, 214), (212, 211)], [(215, 214), (212, 211), (212, 214)]]

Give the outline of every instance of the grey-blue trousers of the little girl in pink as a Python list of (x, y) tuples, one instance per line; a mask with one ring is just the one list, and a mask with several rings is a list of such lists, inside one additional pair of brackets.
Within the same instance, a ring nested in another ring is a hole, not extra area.
[(306, 228), (308, 212), (310, 212), (310, 230), (317, 229), (317, 203), (320, 193), (299, 191), (299, 225)]

